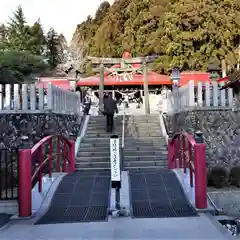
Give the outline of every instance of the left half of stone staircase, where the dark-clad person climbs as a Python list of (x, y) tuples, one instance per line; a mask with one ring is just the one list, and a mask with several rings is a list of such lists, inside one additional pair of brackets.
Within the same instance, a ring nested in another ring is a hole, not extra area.
[(104, 116), (91, 116), (84, 139), (76, 157), (78, 170), (110, 169), (110, 137), (113, 134), (121, 135), (121, 116), (114, 118), (115, 129), (113, 133), (106, 132), (106, 118)]

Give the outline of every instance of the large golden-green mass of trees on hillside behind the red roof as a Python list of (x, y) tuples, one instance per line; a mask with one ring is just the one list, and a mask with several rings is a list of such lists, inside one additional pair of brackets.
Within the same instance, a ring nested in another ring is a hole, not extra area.
[[(105, 4), (105, 8), (101, 7)], [(238, 0), (118, 0), (102, 3), (94, 18), (79, 24), (73, 44), (88, 55), (121, 57), (158, 54), (153, 67), (168, 72), (206, 70), (225, 59), (234, 68), (240, 44)]]

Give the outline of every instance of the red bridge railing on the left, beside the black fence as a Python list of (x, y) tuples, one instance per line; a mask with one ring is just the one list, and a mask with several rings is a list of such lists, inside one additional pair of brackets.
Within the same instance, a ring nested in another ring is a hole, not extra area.
[(75, 142), (62, 136), (47, 136), (31, 149), (19, 150), (19, 216), (32, 215), (32, 188), (38, 184), (42, 192), (42, 178), (52, 172), (75, 171)]

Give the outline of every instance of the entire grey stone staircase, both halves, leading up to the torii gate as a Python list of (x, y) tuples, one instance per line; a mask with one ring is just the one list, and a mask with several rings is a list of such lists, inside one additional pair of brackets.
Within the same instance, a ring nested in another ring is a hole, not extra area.
[[(109, 139), (116, 134), (121, 140), (122, 116), (115, 117), (114, 124), (114, 132), (109, 134), (106, 132), (105, 117), (91, 116), (76, 158), (78, 170), (110, 169)], [(167, 167), (167, 146), (158, 115), (125, 117), (123, 154), (125, 170)]]

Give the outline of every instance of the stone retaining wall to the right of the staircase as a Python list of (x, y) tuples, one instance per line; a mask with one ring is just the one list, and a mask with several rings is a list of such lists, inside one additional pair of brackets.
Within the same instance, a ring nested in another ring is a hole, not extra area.
[(208, 169), (240, 165), (240, 111), (193, 110), (167, 116), (166, 122), (173, 133), (203, 132)]

